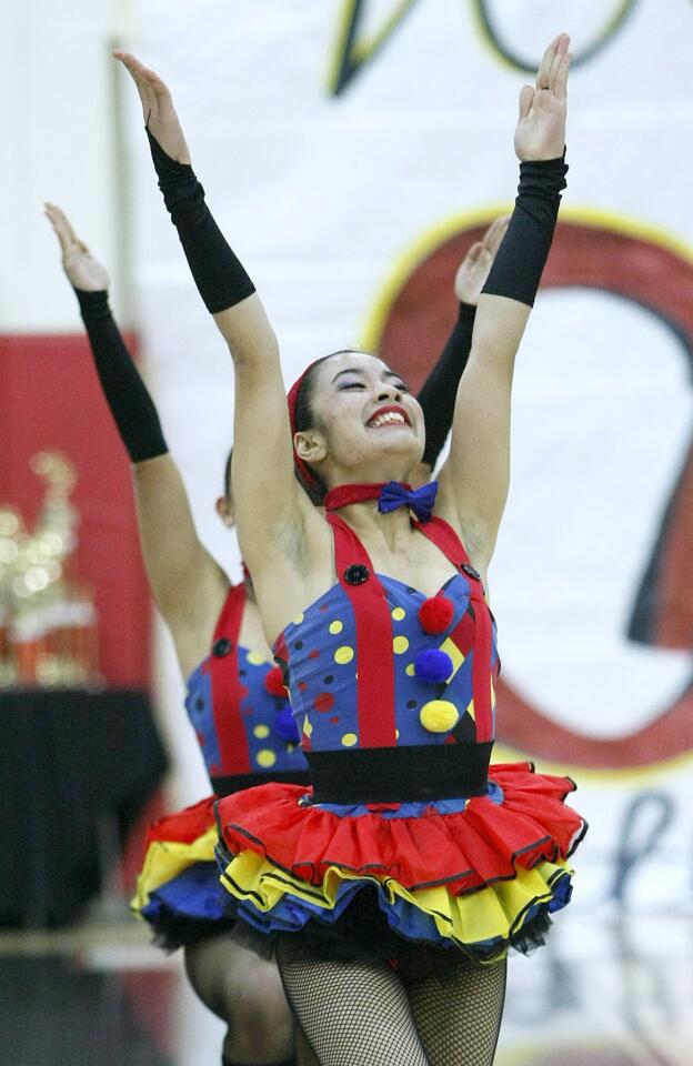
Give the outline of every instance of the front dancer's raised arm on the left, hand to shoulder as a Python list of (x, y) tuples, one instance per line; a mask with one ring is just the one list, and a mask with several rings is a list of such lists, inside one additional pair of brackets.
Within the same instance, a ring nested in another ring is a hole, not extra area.
[(198, 290), (233, 358), (233, 495), (243, 555), (251, 571), (278, 550), (300, 563), (304, 520), (313, 507), (293, 474), (274, 332), (254, 285), (207, 207), (169, 89), (133, 56), (114, 56), (137, 86), (165, 205)]

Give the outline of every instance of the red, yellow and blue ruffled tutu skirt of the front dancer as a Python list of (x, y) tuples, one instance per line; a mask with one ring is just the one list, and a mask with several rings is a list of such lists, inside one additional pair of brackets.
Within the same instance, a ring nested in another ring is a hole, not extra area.
[(257, 949), (291, 933), (327, 957), (494, 962), (543, 943), (570, 901), (586, 831), (564, 803), (574, 788), (531, 763), (491, 766), (485, 795), (440, 802), (313, 804), (305, 787), (261, 785), (215, 805), (221, 883)]

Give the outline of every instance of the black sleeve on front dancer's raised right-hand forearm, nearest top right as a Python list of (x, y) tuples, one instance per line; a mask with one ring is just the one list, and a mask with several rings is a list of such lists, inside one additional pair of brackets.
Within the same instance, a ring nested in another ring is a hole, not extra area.
[(534, 305), (553, 240), (566, 173), (563, 158), (520, 163), (515, 210), (495, 253), (483, 292)]

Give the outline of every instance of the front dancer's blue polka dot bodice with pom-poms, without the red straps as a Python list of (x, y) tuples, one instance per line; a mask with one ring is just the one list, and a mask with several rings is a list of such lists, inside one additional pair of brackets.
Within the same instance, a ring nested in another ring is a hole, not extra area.
[[(470, 581), (456, 574), (445, 583), (435, 597), (444, 610), (432, 625), (426, 617), (432, 599), (393, 577), (378, 576), (392, 620), (396, 745), (449, 743), (453, 728), (456, 738), (476, 740)], [(438, 632), (426, 632), (422, 620)], [(288, 667), (291, 704), (305, 751), (361, 746), (356, 643), (352, 606), (343, 587), (334, 585), (294, 619), (275, 644), (277, 660)], [(493, 707), (499, 666), (494, 623), (489, 666)], [(481, 738), (491, 740), (492, 728), (491, 736)]]

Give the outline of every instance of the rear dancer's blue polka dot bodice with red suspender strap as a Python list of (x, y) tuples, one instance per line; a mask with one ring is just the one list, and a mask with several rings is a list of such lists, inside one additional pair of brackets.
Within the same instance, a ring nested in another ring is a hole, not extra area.
[(218, 626), (211, 654), (191, 673), (185, 697), (210, 778), (260, 774), (271, 780), (307, 771), (280, 672), (269, 655), (219, 632)]

